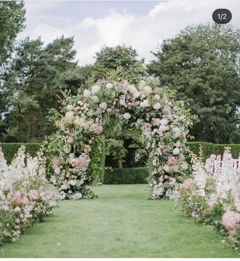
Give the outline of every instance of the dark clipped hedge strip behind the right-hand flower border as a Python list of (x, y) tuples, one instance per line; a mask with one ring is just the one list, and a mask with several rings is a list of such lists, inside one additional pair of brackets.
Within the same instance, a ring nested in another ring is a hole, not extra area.
[(203, 158), (206, 160), (211, 154), (223, 155), (224, 147), (231, 148), (231, 154), (233, 159), (237, 159), (240, 153), (240, 144), (214, 144), (208, 142), (187, 142), (190, 150), (198, 155), (200, 144), (203, 147)]

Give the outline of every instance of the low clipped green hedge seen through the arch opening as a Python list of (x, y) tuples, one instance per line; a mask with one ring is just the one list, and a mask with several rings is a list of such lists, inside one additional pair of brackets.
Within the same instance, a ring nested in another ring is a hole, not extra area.
[(104, 184), (143, 184), (148, 176), (146, 167), (105, 170)]

